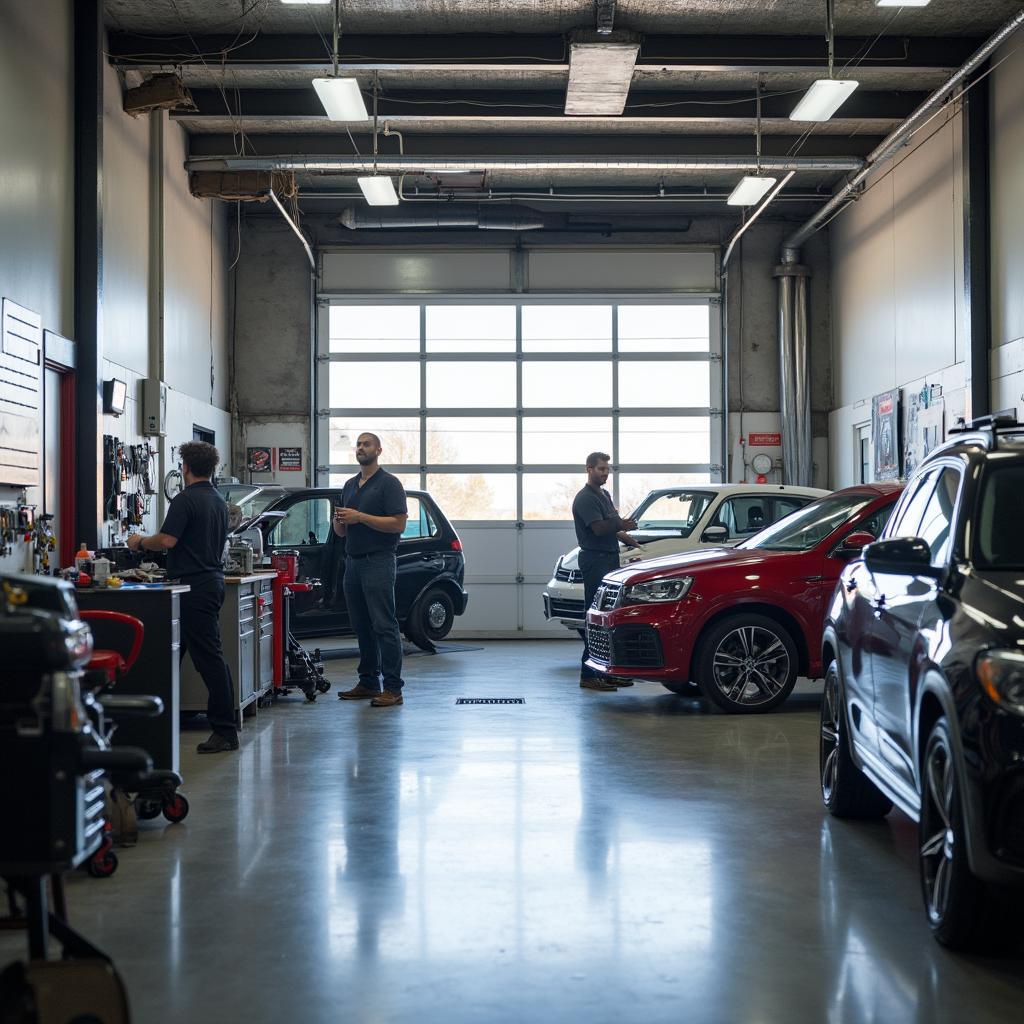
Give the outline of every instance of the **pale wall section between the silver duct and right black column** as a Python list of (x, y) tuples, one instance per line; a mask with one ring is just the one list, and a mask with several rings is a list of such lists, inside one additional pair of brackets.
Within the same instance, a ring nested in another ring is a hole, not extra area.
[(871, 396), (939, 385), (963, 415), (963, 166), (958, 113), (937, 119), (831, 225), (829, 483), (856, 482), (856, 427)]

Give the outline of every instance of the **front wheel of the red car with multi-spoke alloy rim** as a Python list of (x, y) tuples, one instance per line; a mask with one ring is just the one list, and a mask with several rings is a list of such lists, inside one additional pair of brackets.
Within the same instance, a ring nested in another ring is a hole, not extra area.
[(777, 708), (793, 692), (800, 658), (784, 626), (738, 612), (712, 627), (695, 664), (708, 700), (732, 715), (752, 715)]

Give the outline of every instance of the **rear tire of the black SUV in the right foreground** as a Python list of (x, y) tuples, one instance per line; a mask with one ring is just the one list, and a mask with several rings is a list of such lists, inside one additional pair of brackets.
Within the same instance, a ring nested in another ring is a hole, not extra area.
[(821, 734), (818, 744), (821, 799), (837, 818), (882, 818), (893, 802), (857, 767), (850, 753), (843, 684), (833, 662), (825, 673), (821, 695)]

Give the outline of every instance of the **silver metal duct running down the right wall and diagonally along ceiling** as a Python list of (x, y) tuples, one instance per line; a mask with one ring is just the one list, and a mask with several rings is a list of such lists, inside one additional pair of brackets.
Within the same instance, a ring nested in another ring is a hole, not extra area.
[(980, 46), (971, 58), (926, 99), (898, 128), (868, 154), (863, 166), (803, 226), (782, 243), (778, 280), (778, 344), (780, 413), (782, 417), (782, 479), (809, 484), (813, 473), (811, 453), (810, 333), (808, 289), (810, 270), (800, 262), (804, 243), (860, 194), (871, 171), (895, 156), (922, 128), (940, 104), (964, 85), (1022, 25), (1018, 11)]

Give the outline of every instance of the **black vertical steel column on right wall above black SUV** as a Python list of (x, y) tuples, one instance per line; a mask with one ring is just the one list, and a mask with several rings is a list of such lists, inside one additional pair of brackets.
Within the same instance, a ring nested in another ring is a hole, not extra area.
[(964, 93), (964, 316), (970, 417), (991, 412), (988, 79)]

